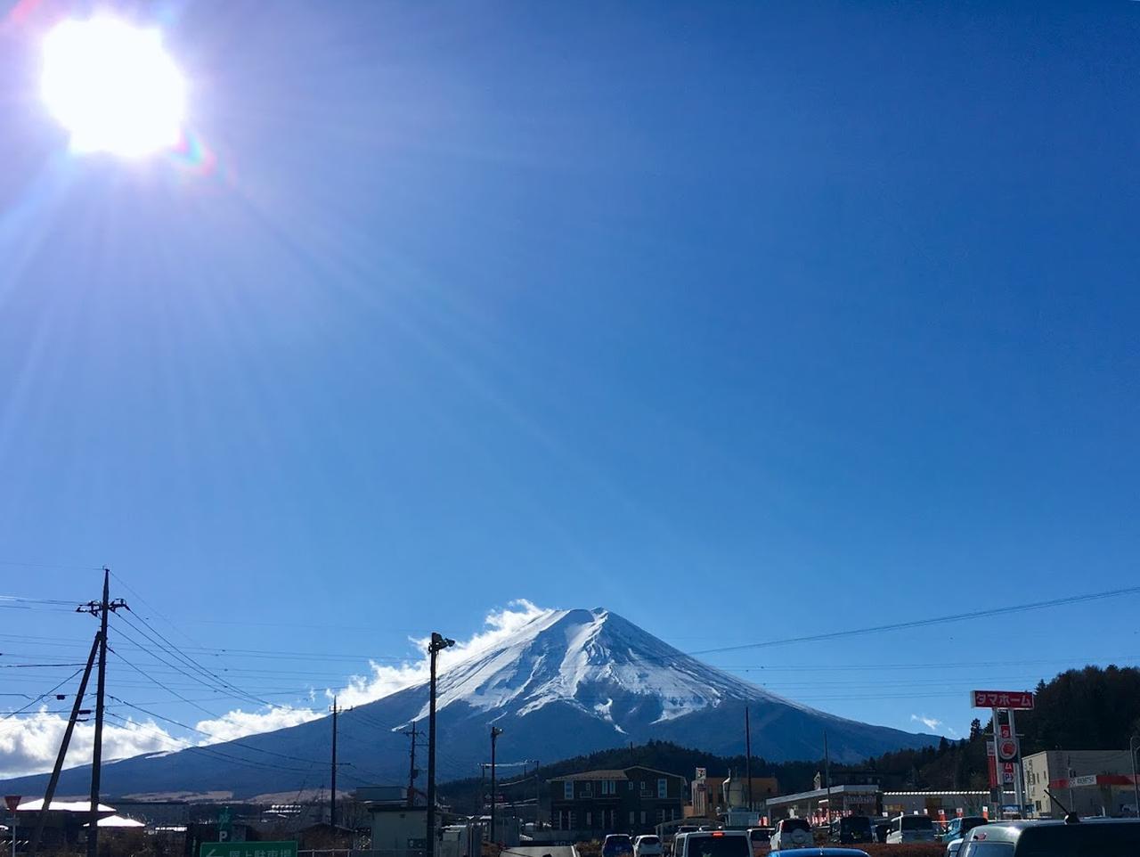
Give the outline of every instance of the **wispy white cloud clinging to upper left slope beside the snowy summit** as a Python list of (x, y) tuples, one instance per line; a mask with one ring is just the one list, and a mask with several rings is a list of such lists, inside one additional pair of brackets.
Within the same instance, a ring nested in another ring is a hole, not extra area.
[[(457, 642), (450, 648), (445, 648), (440, 652), (438, 670), (446, 672), (449, 667), (492, 648), (527, 623), (549, 612), (536, 606), (526, 598), (511, 602), (504, 610), (491, 611), (483, 619), (486, 630), (479, 631), (467, 640)], [(348, 688), (337, 691), (340, 703), (345, 708), (363, 705), (366, 702), (374, 702), (382, 696), (388, 696), (390, 693), (396, 693), (405, 687), (412, 687), (413, 685), (426, 681), (429, 678), (427, 638), (412, 638), (410, 643), (418, 651), (423, 652), (420, 660), (407, 661), (399, 667), (389, 667), (373, 661), (369, 664), (372, 668), (370, 675), (353, 676), (349, 680)], [(326, 691), (325, 693), (332, 696), (332, 691)]]

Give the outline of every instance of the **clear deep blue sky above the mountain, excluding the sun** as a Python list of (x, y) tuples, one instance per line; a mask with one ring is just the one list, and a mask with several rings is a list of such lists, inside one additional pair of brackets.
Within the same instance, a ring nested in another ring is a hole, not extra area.
[[(0, 28), (0, 591), (106, 563), (320, 688), (516, 598), (703, 650), (1135, 579), (1137, 3), (171, 6), (197, 171), (68, 154), (56, 8)], [(1135, 609), (709, 660), (961, 733)]]

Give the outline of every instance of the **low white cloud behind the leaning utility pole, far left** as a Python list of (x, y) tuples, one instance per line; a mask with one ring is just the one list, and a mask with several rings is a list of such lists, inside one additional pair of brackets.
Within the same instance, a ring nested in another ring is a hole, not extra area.
[[(0, 723), (0, 777), (23, 776), (50, 770), (55, 765), (59, 742), (63, 740), (67, 718), (40, 710), (30, 717), (13, 718)], [(91, 761), (95, 745), (95, 724), (75, 725), (67, 748), (65, 765), (71, 768)], [(103, 727), (103, 758), (125, 759), (140, 753), (165, 752), (189, 746), (173, 737), (153, 721), (122, 724), (105, 723)]]

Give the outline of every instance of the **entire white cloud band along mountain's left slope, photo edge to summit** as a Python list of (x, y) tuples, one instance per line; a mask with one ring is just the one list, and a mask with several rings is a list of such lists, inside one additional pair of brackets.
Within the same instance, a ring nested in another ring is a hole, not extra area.
[[(439, 671), (445, 672), (449, 667), (494, 647), (528, 622), (548, 612), (526, 599), (513, 601), (503, 610), (491, 611), (484, 618), (483, 630), (440, 653)], [(427, 640), (413, 638), (409, 642), (423, 653), (418, 659), (409, 659), (398, 667), (372, 662), (369, 675), (351, 676), (348, 687), (335, 692), (340, 704), (350, 708), (374, 702), (396, 691), (426, 681)], [(332, 699), (334, 692), (329, 688), (324, 694)], [(308, 696), (310, 702), (316, 702), (318, 693), (310, 689)], [(141, 753), (180, 750), (195, 744), (215, 744), (296, 726), (316, 720), (326, 713), (324, 708), (267, 707), (260, 711), (235, 709), (221, 717), (196, 723), (195, 728), (199, 732), (192, 734), (189, 740), (176, 737), (154, 720), (107, 721), (103, 729), (103, 758), (109, 761)], [(43, 710), (28, 717), (0, 721), (0, 778), (50, 770), (66, 725), (66, 717), (50, 715)], [(78, 724), (67, 750), (67, 767), (90, 762), (93, 741), (93, 724)]]

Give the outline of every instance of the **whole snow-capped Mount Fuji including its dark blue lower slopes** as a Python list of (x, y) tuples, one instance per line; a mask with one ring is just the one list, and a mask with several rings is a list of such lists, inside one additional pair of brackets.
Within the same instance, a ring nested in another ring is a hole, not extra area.
[[(343, 711), (342, 782), (407, 782), (413, 723), (426, 728), (426, 684)], [(649, 740), (716, 754), (743, 752), (744, 709), (752, 750), (772, 761), (819, 759), (823, 731), (837, 761), (935, 744), (907, 733), (836, 717), (783, 699), (679, 652), (606, 610), (548, 611), (443, 670), (438, 680), (441, 782), (474, 775), (491, 725), (503, 752), (555, 761)], [(327, 785), (327, 718), (209, 746), (104, 765), (109, 795), (230, 793), (234, 798)], [(65, 770), (58, 794), (83, 793), (88, 766)], [(684, 773), (684, 772), (678, 772)], [(7, 781), (42, 793), (47, 777)]]

